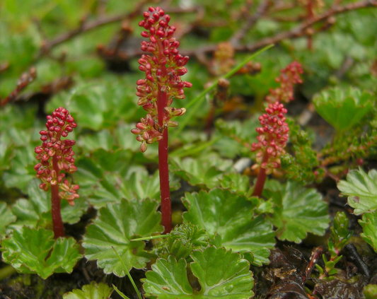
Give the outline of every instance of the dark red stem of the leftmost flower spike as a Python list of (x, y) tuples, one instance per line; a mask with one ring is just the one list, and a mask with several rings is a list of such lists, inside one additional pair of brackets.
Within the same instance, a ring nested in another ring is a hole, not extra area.
[[(57, 158), (52, 157), (52, 165), (54, 170), (59, 175), (59, 168), (57, 167)], [(64, 237), (64, 226), (62, 221), (62, 214), (60, 213), (60, 198), (59, 198), (59, 185), (51, 185), (51, 214), (52, 225), (54, 226), (54, 238)]]

